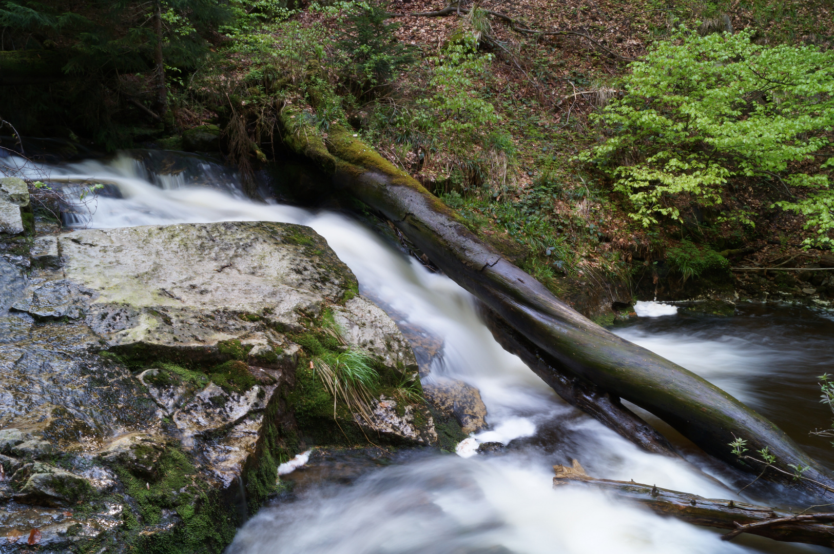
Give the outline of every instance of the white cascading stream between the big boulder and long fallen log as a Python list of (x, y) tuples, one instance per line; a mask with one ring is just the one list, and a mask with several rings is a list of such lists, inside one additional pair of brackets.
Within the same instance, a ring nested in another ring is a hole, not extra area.
[[(469, 293), (404, 257), (357, 222), (332, 212), (251, 202), (230, 193), (234, 187), (226, 192), (184, 187), (181, 177), (156, 178), (165, 185), (158, 187), (127, 157), (109, 164), (45, 169), (53, 177), (117, 184), (123, 198), (99, 198), (89, 227), (231, 220), (313, 227), (351, 267), (363, 293), (444, 338), (442, 359), (431, 375), (460, 378), (480, 389), (490, 429), (476, 441), (508, 443), (530, 437), (528, 447), (504, 456), (425, 456), (370, 472), (349, 487), (310, 489), (296, 502), (264, 508), (239, 532), (229, 552), (800, 552), (786, 545), (771, 550), (767, 542), (747, 541), (763, 550), (721, 542), (715, 532), (656, 517), (600, 492), (554, 490), (551, 466), (577, 458), (595, 477), (732, 497), (697, 467), (641, 452), (561, 402), (493, 340)], [(207, 165), (203, 171), (214, 170)]]

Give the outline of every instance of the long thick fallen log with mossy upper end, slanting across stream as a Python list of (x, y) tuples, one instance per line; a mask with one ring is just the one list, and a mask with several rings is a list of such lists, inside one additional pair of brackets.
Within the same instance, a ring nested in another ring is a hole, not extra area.
[[(768, 469), (762, 479), (834, 497), (829, 486), (834, 475), (776, 425), (705, 379), (581, 316), (354, 133), (334, 123), (323, 140), (304, 120), (292, 106), (280, 113), (289, 148), (383, 213), (449, 277), (567, 370), (653, 413), (705, 452), (747, 472), (762, 467), (735, 456), (728, 443), (741, 437), (751, 451), (768, 447), (776, 457), (773, 467), (781, 471)], [(806, 479), (791, 478), (796, 466), (808, 468)]]

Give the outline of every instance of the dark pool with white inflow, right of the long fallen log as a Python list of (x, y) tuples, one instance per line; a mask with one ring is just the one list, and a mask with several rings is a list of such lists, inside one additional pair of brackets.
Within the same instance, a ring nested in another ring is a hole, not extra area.
[(806, 307), (741, 304), (733, 317), (679, 311), (614, 332), (698, 373), (746, 402), (813, 457), (834, 467), (818, 376), (834, 373), (834, 315)]

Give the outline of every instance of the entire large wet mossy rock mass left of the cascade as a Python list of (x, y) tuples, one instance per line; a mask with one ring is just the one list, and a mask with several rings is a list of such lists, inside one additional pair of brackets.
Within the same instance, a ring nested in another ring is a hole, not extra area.
[[(23, 537), (10, 552), (33, 528), (53, 549), (219, 552), (307, 447), (437, 441), (419, 395), (390, 383), (371, 426), (344, 407), (334, 422), (319, 377), (299, 392), (316, 348), (417, 378), (394, 322), (309, 227), (88, 229), (37, 237), (27, 259), (28, 274), (0, 266), (0, 537)], [(302, 405), (348, 434), (299, 425)]]

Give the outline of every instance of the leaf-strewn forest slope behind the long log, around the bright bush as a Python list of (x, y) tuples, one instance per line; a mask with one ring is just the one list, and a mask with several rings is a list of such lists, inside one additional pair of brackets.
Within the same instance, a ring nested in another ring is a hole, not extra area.
[[(390, 22), (399, 26), (399, 42), (419, 52), (418, 59), (384, 93), (349, 107), (349, 121), (391, 162), (455, 207), (482, 237), (588, 315), (610, 312), (611, 300), (651, 297), (781, 298), (821, 305), (834, 297), (827, 272), (764, 270), (834, 265), (830, 259), (826, 264), (824, 252), (802, 248), (811, 231), (803, 228), (801, 217), (771, 206), (786, 193), (801, 191), (774, 189), (763, 194), (761, 187), (736, 185), (728, 202), (756, 213), (755, 226), (716, 223), (693, 206), (683, 222), (646, 229), (629, 217), (626, 199), (610, 182), (575, 161), (577, 153), (603, 137), (605, 129), (591, 116), (621, 93), (621, 77), (630, 71), (630, 60), (645, 54), (652, 42), (669, 37), (675, 25), (717, 28), (726, 24), (726, 16), (736, 30), (754, 27), (761, 42), (827, 46), (829, 2), (480, 2), (480, 9), (505, 14), (526, 28), (573, 33), (517, 32), (500, 17), (490, 17), (485, 24), (480, 50), (493, 57), (472, 95), (495, 108), (501, 130), (511, 137), (512, 153), (498, 175), (488, 167), (480, 178), (468, 174), (466, 160), (455, 154), (479, 152), (479, 144), (455, 152), (415, 147), (419, 141), (409, 142), (407, 129), (390, 126), (392, 111), (414, 110), (430, 94), (432, 70), (445, 47), (479, 25), (456, 12), (443, 17), (409, 15), (446, 7), (436, 0), (394, 0), (385, 7), (402, 14)], [(465, 2), (462, 7), (470, 5)], [(339, 21), (321, 12), (302, 11), (297, 17), (304, 25), (339, 32)], [(465, 137), (459, 138), (465, 142)], [(422, 156), (415, 161), (418, 154)], [(722, 268), (687, 282), (667, 259), (667, 252), (681, 241), (724, 252), (734, 267), (761, 271)], [(590, 290), (596, 293), (589, 296)]]

